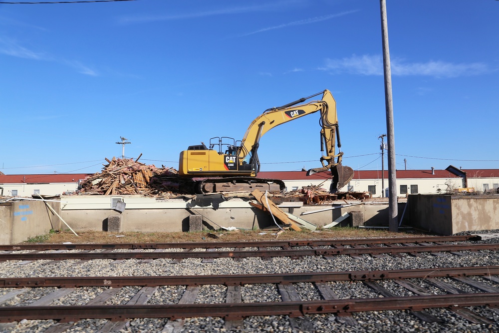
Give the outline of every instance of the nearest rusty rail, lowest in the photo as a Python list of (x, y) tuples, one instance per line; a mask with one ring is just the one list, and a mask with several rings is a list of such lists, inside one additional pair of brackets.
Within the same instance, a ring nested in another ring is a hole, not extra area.
[(0, 322), (27, 320), (81, 319), (125, 320), (127, 318), (191, 318), (222, 317), (235, 319), (248, 316), (300, 317), (309, 314), (351, 314), (366, 311), (460, 308), (473, 306), (499, 307), (499, 293), (448, 294), (374, 299), (349, 299), (301, 302), (175, 304), (175, 305), (111, 305), (111, 306), (31, 306), (0, 307)]

